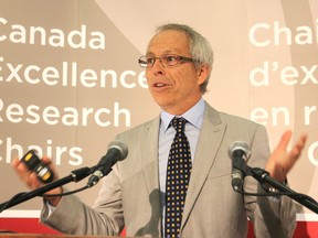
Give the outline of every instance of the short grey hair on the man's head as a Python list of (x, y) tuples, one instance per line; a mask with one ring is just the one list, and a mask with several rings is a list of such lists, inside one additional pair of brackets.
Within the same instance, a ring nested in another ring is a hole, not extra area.
[[(194, 60), (194, 65), (200, 67), (202, 65), (206, 65), (210, 69), (212, 69), (213, 65), (213, 51), (209, 41), (202, 36), (199, 32), (194, 31), (192, 28), (184, 24), (177, 23), (168, 23), (157, 28), (156, 33), (160, 33), (167, 30), (174, 30), (186, 33), (189, 37), (190, 42), (190, 54)], [(205, 78), (204, 83), (200, 85), (200, 89), (202, 95), (206, 91), (206, 87), (209, 84), (211, 72)]]

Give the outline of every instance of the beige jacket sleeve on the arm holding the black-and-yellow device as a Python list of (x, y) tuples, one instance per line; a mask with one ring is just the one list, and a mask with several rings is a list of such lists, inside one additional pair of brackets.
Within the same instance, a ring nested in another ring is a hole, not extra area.
[(118, 236), (124, 228), (120, 186), (116, 172), (113, 171), (107, 176), (107, 183), (109, 185), (112, 180), (114, 190), (112, 188), (112, 195), (104, 196), (105, 178), (102, 180), (103, 185), (95, 207), (85, 205), (75, 195), (64, 196), (53, 212), (44, 203), (41, 223), (63, 234)]

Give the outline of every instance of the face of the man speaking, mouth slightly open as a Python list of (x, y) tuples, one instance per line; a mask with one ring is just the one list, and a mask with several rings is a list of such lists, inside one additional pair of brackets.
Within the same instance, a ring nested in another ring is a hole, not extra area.
[[(189, 40), (183, 32), (167, 30), (152, 37), (147, 56), (167, 54), (192, 57)], [(202, 67), (195, 68), (192, 62), (165, 67), (157, 58), (155, 65), (146, 69), (146, 77), (155, 101), (163, 110), (181, 115), (201, 98), (200, 85), (206, 74)]]

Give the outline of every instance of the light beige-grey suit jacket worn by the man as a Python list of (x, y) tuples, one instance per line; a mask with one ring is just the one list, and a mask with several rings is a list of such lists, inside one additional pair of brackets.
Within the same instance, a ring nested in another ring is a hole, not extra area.
[[(42, 221), (66, 234), (161, 236), (156, 118), (118, 136), (128, 156), (103, 178), (94, 208), (75, 196), (64, 197), (54, 213), (42, 212)], [(247, 217), (256, 237), (290, 237), (296, 212), (290, 198), (242, 196), (231, 186), (234, 141), (251, 145), (251, 167), (264, 167), (269, 155), (263, 126), (222, 113), (206, 104), (182, 218), (182, 237), (246, 237)], [(264, 192), (253, 177), (245, 177), (246, 192)]]

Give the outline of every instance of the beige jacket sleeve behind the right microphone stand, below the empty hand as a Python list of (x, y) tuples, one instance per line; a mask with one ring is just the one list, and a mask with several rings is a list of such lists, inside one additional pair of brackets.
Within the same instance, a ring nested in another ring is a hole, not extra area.
[[(271, 154), (265, 127), (255, 131), (252, 144), (251, 167), (264, 167)], [(261, 184), (253, 177), (246, 177), (245, 192), (265, 193)], [(254, 224), (256, 237), (292, 237), (296, 228), (296, 207), (292, 198), (282, 196), (278, 199), (269, 196), (245, 196), (245, 207), (250, 220)]]

